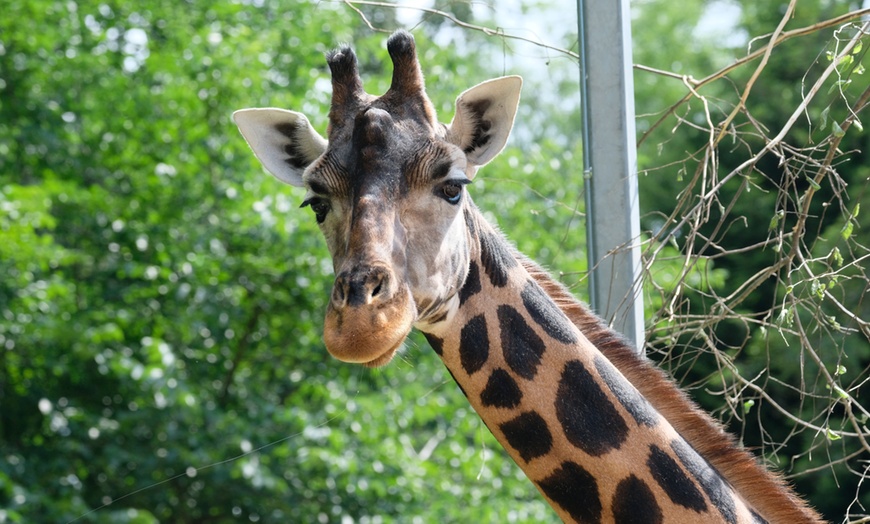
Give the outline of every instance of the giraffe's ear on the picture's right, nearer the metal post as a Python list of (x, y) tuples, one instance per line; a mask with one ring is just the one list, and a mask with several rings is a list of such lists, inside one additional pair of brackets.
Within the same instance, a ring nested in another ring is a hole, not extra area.
[(522, 87), (522, 78), (505, 76), (478, 84), (456, 99), (456, 115), (447, 127), (447, 140), (465, 151), (469, 167), (486, 164), (504, 148)]

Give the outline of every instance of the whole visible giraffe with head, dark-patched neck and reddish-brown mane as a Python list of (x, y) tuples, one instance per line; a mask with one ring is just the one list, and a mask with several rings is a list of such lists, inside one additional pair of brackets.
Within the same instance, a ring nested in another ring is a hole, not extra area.
[(327, 138), (297, 112), (233, 115), (266, 170), (307, 190), (336, 275), (328, 352), (383, 366), (422, 331), (565, 522), (821, 522), (474, 205), (466, 186), (504, 147), (521, 78), (463, 92), (445, 125), (413, 37), (398, 31), (387, 49), (380, 97), (349, 46), (327, 54)]

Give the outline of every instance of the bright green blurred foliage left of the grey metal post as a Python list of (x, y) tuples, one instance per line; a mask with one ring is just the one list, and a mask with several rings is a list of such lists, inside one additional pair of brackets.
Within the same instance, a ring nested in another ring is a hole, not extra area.
[[(379, 371), (328, 357), (323, 241), (230, 120), (324, 129), (324, 51), (352, 41), (382, 92), (385, 35), (314, 1), (3, 11), (0, 521), (555, 520), (425, 341)], [(417, 36), (443, 120), (500, 73)], [(506, 152), (473, 192), (580, 271), (563, 146)]]

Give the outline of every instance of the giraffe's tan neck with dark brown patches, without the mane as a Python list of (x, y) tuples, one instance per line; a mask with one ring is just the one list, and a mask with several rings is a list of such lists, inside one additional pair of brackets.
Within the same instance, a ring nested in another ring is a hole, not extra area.
[(471, 205), (466, 220), (468, 277), (446, 320), (423, 330), (562, 519), (764, 522), (584, 336), (536, 268)]

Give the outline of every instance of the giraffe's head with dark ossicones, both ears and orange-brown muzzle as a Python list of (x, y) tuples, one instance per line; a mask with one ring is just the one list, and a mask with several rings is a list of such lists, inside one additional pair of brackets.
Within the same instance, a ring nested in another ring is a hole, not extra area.
[(490, 80), (462, 93), (449, 125), (426, 95), (413, 37), (387, 41), (389, 90), (366, 93), (349, 47), (327, 55), (332, 106), (327, 139), (281, 109), (233, 118), (278, 179), (307, 189), (326, 238), (335, 283), (324, 341), (336, 358), (390, 361), (412, 326), (443, 320), (469, 267), (465, 185), (504, 147), (522, 80)]

